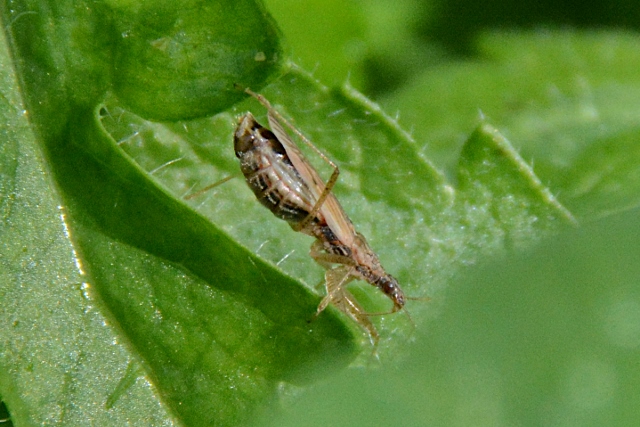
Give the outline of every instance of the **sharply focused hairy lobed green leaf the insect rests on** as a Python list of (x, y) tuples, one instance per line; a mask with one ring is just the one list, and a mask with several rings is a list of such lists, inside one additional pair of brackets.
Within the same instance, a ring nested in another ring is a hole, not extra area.
[[(236, 103), (234, 83), (263, 92), (340, 165), (336, 195), (358, 230), (409, 295), (432, 298), (408, 304), (418, 330), (448, 309), (444, 291), (466, 266), (573, 223), (488, 121), (471, 133), (449, 118), (471, 136), (448, 178), (423, 139), (350, 86), (281, 69), (259, 6), (225, 4), (3, 6), (18, 77), (3, 70), (0, 393), (17, 423), (246, 425), (362, 349), (356, 364), (374, 361), (335, 310), (308, 323), (323, 273), (310, 239), (241, 179), (183, 202), (238, 173), (235, 116), (266, 122), (254, 100)], [(367, 310), (388, 309), (371, 286), (351, 289)], [(384, 364), (409, 354), (411, 318), (372, 318)]]

